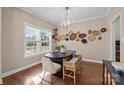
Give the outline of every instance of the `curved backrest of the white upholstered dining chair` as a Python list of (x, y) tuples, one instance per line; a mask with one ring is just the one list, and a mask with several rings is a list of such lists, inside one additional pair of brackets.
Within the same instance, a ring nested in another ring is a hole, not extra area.
[(42, 62), (43, 70), (49, 73), (56, 73), (56, 68), (54, 64), (50, 61), (50, 59), (43, 57), (41, 58), (41, 62)]

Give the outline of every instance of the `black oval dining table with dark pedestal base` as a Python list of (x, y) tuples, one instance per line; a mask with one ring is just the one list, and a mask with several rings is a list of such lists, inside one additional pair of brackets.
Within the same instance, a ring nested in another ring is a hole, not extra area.
[(58, 63), (61, 65), (61, 70), (56, 74), (59, 77), (63, 77), (63, 59), (70, 60), (73, 58), (75, 50), (66, 50), (65, 52), (53, 51), (45, 54), (46, 58), (49, 58), (52, 62)]

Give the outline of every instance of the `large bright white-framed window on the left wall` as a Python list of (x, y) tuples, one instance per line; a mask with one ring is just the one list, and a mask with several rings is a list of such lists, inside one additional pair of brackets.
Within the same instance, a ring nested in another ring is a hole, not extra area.
[(51, 50), (51, 32), (46, 29), (25, 26), (25, 56), (32, 56)]

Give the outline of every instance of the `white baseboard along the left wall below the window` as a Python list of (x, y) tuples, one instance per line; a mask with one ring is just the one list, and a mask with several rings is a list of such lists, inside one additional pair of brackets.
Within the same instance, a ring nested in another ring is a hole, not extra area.
[(38, 62), (35, 62), (35, 63), (31, 63), (31, 64), (28, 64), (28, 65), (26, 65), (26, 66), (23, 66), (23, 67), (20, 67), (20, 68), (16, 68), (16, 69), (14, 69), (14, 70), (11, 70), (11, 71), (2, 73), (1, 77), (4, 78), (4, 77), (7, 77), (7, 76), (10, 76), (10, 75), (12, 75), (12, 74), (14, 74), (14, 73), (17, 73), (17, 72), (22, 71), (22, 70), (24, 70), (24, 69), (30, 68), (30, 67), (32, 67), (32, 66), (34, 66), (34, 65), (37, 65), (37, 64), (39, 64), (39, 63), (41, 63), (41, 61), (38, 61)]

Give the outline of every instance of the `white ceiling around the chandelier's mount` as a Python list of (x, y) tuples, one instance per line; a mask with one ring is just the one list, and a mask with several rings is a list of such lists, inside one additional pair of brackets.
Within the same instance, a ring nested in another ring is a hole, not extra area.
[[(54, 24), (60, 25), (61, 17), (65, 12), (64, 7), (24, 7), (21, 8), (41, 19)], [(110, 8), (108, 7), (70, 7), (73, 22), (80, 22), (94, 18), (104, 17)]]

